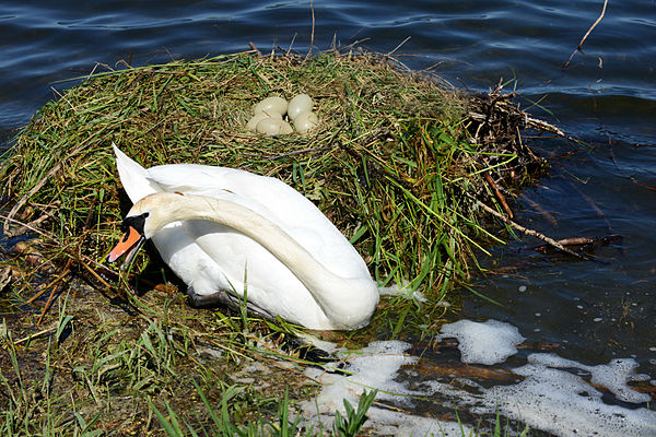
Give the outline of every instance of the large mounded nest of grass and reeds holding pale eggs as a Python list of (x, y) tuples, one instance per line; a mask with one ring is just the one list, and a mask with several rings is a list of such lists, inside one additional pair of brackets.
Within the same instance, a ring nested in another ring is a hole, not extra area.
[[(315, 131), (246, 130), (257, 102), (298, 93), (316, 104)], [(57, 274), (101, 281), (130, 206), (115, 142), (145, 167), (198, 163), (280, 178), (337, 225), (380, 285), (422, 285), (438, 300), (494, 238), (477, 201), (501, 210), (493, 187), (543, 165), (519, 135), (532, 119), (508, 97), (465, 93), (375, 54), (251, 51), (96, 73), (47, 103), (7, 152), (4, 231), (38, 234)], [(133, 272), (154, 253), (142, 251)]]

